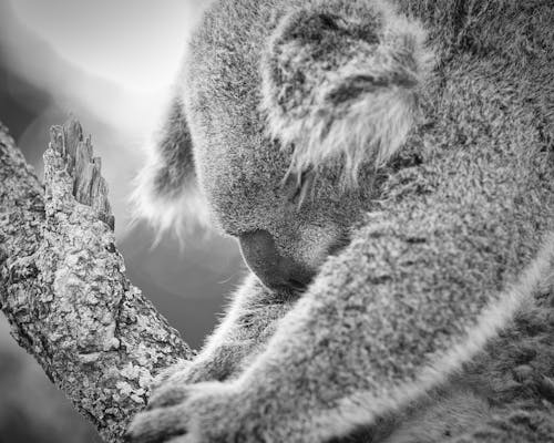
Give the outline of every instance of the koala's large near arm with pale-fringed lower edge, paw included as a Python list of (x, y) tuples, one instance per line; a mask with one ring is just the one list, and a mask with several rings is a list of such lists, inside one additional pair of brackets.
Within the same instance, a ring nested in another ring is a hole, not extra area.
[(440, 383), (529, 300), (552, 260), (552, 240), (538, 254), (552, 196), (526, 173), (514, 187), (470, 187), (475, 176), (505, 184), (506, 166), (460, 152), (435, 164), (442, 178), (404, 172), (399, 186), (413, 182), (411, 195), (383, 205), (329, 259), (250, 367), (227, 383), (174, 385), (179, 401), (154, 402), (132, 433), (160, 437), (170, 416), (183, 442), (318, 442)]

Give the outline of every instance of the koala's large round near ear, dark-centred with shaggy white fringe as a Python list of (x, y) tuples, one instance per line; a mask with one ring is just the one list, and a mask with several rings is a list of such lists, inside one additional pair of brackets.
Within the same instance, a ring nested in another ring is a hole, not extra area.
[(330, 7), (295, 11), (269, 41), (261, 109), (268, 135), (294, 147), (298, 175), (338, 157), (356, 184), (359, 166), (384, 164), (412, 127), (433, 64), (425, 33), (384, 3), (371, 4), (356, 19)]

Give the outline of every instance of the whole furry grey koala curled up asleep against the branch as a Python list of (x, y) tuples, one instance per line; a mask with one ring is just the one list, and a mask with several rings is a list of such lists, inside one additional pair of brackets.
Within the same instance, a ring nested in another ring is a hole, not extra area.
[(213, 2), (135, 200), (161, 230), (209, 220), (249, 271), (129, 439), (444, 442), (490, 420), (514, 349), (554, 340), (552, 22), (547, 0)]

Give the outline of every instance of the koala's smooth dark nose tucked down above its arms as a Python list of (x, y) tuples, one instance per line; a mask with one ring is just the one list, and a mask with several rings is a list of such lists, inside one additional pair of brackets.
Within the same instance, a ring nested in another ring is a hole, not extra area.
[(267, 230), (243, 234), (238, 243), (246, 265), (269, 289), (302, 291), (314, 278), (314, 271), (279, 254), (274, 237)]

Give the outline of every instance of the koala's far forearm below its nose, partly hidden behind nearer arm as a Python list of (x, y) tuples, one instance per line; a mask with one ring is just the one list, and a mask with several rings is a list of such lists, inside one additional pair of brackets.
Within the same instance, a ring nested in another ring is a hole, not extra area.
[(245, 362), (257, 356), (275, 331), (275, 322), (289, 310), (293, 299), (265, 288), (250, 275), (235, 293), (229, 310), (193, 361), (164, 370), (154, 385), (150, 406), (178, 401), (175, 387), (224, 381), (238, 375)]

